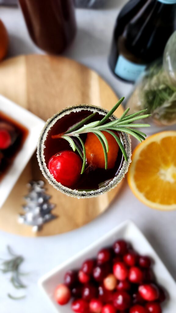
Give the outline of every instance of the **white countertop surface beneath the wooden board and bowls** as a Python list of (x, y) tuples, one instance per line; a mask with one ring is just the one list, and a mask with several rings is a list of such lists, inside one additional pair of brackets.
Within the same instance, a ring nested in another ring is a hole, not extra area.
[[(132, 86), (113, 77), (108, 68), (107, 56), (115, 19), (124, 2), (108, 0), (108, 5), (103, 10), (78, 9), (77, 36), (72, 47), (64, 54), (95, 69), (118, 96), (127, 96)], [(0, 7), (0, 19), (5, 23), (10, 36), (9, 57), (42, 53), (29, 38), (19, 8)], [(53, 237), (23, 238), (0, 231), (0, 255), (7, 257), (6, 245), (11, 245), (17, 253), (23, 254), (23, 270), (30, 272), (28, 276), (24, 276), (28, 285), (25, 291), (27, 297), (20, 301), (8, 299), (8, 292), (13, 295), (19, 295), (19, 292), (11, 287), (5, 275), (0, 274), (0, 312), (52, 312), (52, 307), (38, 288), (38, 278), (129, 218), (141, 228), (176, 279), (176, 212), (161, 212), (146, 207), (134, 197), (125, 181), (117, 199), (102, 216), (70, 233)]]

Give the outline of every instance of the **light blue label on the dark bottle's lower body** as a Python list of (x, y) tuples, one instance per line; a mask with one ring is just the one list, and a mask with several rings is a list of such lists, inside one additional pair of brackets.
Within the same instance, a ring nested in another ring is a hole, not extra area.
[(120, 55), (114, 72), (125, 80), (136, 81), (145, 68), (146, 65), (135, 64)]

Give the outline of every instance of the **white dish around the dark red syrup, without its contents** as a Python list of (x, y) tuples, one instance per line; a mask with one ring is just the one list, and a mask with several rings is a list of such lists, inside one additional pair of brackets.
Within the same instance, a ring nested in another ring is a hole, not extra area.
[(45, 122), (32, 114), (28, 110), (20, 107), (14, 102), (0, 95), (0, 111), (8, 115), (13, 120), (25, 126), (29, 133), (21, 148), (15, 156), (12, 165), (9, 167), (7, 173), (0, 181), (0, 208), (7, 199), (18, 177), (33, 155), (36, 147), (40, 131)]

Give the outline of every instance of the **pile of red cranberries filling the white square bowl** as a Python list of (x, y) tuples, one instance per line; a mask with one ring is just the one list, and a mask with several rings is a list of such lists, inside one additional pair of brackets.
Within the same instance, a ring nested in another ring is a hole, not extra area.
[(161, 313), (165, 292), (156, 283), (151, 259), (141, 256), (124, 240), (87, 259), (79, 271), (65, 274), (55, 300), (77, 313)]

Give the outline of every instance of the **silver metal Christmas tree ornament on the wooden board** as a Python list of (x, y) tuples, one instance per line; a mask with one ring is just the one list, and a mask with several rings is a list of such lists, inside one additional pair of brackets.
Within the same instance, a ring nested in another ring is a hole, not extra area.
[(37, 232), (42, 228), (42, 225), (56, 218), (51, 213), (55, 204), (49, 203), (51, 196), (45, 193), (43, 188), (44, 182), (31, 181), (28, 183), (29, 193), (24, 197), (26, 205), (23, 205), (24, 214), (19, 214), (18, 222), (33, 226), (33, 231)]

